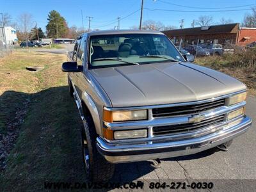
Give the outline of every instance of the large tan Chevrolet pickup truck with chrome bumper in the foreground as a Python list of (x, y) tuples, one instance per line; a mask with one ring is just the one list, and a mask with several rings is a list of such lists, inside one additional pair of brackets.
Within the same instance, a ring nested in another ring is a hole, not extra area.
[(111, 178), (115, 163), (227, 150), (252, 124), (244, 115), (246, 86), (184, 60), (161, 32), (84, 33), (62, 70), (83, 120), (84, 167), (94, 182)]

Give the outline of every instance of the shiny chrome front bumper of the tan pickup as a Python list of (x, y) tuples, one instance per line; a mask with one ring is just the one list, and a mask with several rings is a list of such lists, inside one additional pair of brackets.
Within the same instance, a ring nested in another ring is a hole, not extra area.
[(252, 124), (248, 116), (236, 125), (225, 125), (216, 132), (173, 141), (154, 140), (138, 143), (108, 143), (102, 138), (97, 138), (97, 149), (110, 163), (126, 163), (132, 161), (145, 161), (149, 159), (164, 159), (168, 157), (186, 156), (195, 154), (212, 147), (216, 147), (245, 132)]

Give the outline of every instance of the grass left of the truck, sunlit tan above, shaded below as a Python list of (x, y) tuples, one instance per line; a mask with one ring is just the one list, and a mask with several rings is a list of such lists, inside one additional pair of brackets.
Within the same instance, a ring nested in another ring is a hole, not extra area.
[[(84, 181), (81, 120), (68, 94), (67, 74), (61, 72), (63, 61), (65, 55), (38, 52), (14, 52), (0, 60), (0, 134), (9, 125), (20, 130), (0, 171), (0, 191), (42, 191), (46, 180)], [(45, 68), (29, 72), (26, 66)], [(28, 100), (24, 120), (15, 124)]]

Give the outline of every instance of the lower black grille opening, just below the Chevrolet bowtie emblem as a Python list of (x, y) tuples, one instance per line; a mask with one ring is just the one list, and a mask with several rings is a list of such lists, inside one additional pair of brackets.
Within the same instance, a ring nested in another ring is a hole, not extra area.
[(225, 115), (220, 115), (220, 116), (215, 116), (213, 118), (209, 118), (206, 120), (202, 120), (202, 122), (198, 122), (198, 123), (153, 127), (153, 135), (159, 136), (163, 134), (177, 134), (177, 133), (196, 131), (204, 127), (220, 124), (221, 122), (224, 121), (224, 118), (225, 118)]

